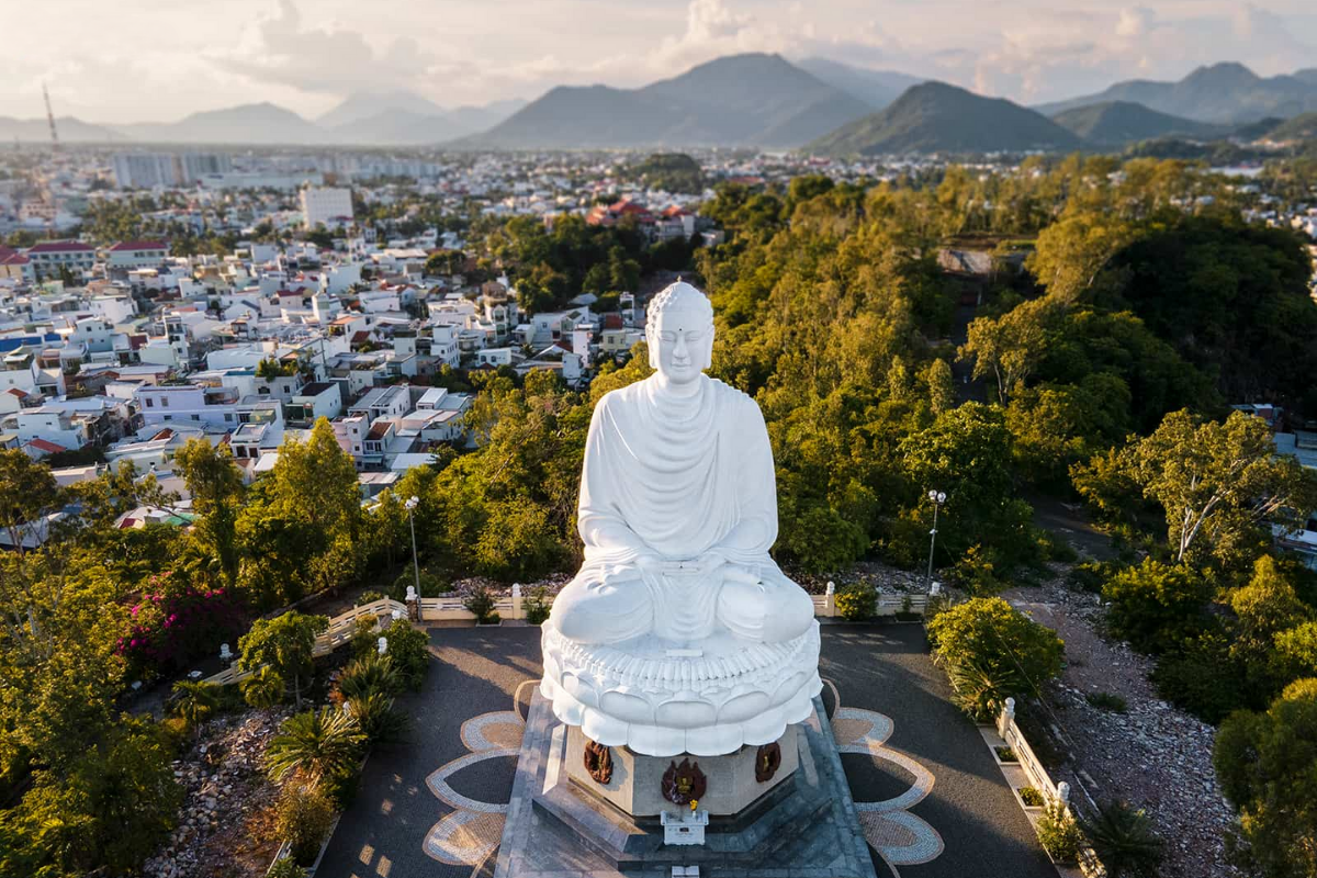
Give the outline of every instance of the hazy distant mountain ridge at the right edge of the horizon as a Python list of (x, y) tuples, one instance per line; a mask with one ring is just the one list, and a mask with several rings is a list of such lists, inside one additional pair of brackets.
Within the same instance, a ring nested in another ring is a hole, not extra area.
[(1317, 68), (1291, 76), (1262, 78), (1234, 62), (1198, 67), (1173, 83), (1131, 79), (1084, 97), (1042, 104), (1034, 109), (1055, 116), (1067, 109), (1129, 101), (1159, 113), (1200, 122), (1254, 122), (1267, 116), (1291, 117), (1317, 111)]

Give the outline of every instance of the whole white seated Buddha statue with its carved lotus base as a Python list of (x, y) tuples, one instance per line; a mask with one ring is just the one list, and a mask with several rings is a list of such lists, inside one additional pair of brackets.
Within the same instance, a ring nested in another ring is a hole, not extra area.
[(605, 395), (590, 421), (585, 563), (544, 625), (541, 690), (601, 744), (766, 744), (820, 686), (814, 603), (768, 554), (768, 430), (753, 399), (703, 374), (714, 321), (701, 291), (655, 296), (645, 337), (657, 371)]

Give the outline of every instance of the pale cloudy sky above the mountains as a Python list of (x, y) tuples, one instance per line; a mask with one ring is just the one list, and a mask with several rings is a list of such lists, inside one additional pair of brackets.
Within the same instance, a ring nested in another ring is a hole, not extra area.
[[(776, 51), (1040, 103), (1238, 61), (1317, 66), (1312, 0), (11, 0), (0, 116), (174, 121), (270, 101), (308, 118), (353, 92), (443, 107), (553, 86), (641, 86)], [(16, 38), (17, 37), (17, 38)]]

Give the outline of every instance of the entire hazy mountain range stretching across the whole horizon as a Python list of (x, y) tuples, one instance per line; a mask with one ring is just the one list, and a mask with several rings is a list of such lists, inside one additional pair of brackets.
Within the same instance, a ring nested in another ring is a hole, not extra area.
[[(1303, 116), (1308, 113), (1308, 116)], [(67, 142), (361, 145), (446, 149), (806, 149), (831, 155), (1110, 150), (1176, 137), (1317, 137), (1317, 67), (1263, 78), (1238, 63), (1179, 82), (1130, 80), (1034, 108), (896, 71), (751, 53), (640, 88), (560, 86), (535, 101), (444, 108), (362, 92), (315, 120), (269, 103), (176, 122), (58, 121)], [(1285, 120), (1291, 120), (1287, 122)], [(43, 118), (0, 117), (0, 142), (46, 142)]]

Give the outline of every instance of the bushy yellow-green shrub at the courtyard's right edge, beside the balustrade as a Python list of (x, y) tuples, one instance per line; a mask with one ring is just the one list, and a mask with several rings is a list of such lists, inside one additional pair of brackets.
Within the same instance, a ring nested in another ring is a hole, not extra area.
[(1010, 695), (1029, 692), (1062, 670), (1064, 644), (1001, 598), (973, 598), (927, 625), (938, 661), (951, 674), (956, 702), (988, 719)]

